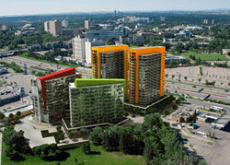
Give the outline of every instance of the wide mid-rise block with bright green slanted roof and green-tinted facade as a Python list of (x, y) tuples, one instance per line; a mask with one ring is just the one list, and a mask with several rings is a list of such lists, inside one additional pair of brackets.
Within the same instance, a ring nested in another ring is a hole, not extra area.
[(75, 79), (69, 85), (72, 127), (123, 119), (124, 79)]

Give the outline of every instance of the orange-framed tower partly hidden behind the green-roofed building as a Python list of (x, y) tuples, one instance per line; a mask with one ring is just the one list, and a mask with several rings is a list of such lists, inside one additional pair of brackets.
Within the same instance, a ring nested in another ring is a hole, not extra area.
[[(92, 47), (92, 78), (127, 80), (128, 45)], [(126, 81), (126, 86), (127, 83)]]

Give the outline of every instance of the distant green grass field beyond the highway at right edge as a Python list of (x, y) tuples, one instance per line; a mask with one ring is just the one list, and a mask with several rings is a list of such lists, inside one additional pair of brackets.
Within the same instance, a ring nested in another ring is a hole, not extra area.
[(220, 54), (197, 54), (195, 52), (186, 52), (183, 53), (182, 56), (185, 57), (190, 57), (190, 55), (195, 56), (196, 59), (201, 59), (201, 60), (205, 60), (205, 61), (217, 61), (218, 58), (220, 59), (220, 61), (230, 61), (230, 58), (227, 58), (224, 55), (220, 55)]

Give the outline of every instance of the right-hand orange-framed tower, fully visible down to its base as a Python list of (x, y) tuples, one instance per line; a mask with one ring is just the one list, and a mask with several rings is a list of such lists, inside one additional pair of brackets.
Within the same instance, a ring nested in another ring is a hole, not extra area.
[(129, 49), (129, 102), (148, 105), (164, 96), (165, 47)]

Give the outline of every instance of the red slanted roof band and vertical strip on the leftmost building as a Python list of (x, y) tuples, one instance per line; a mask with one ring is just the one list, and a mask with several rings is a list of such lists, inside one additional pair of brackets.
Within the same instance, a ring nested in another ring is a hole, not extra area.
[(50, 79), (55, 79), (55, 78), (59, 78), (59, 77), (65, 77), (65, 76), (69, 76), (72, 74), (75, 74), (75, 68), (68, 68), (65, 70), (61, 70), (59, 72), (55, 72), (43, 77), (39, 77), (38, 79), (41, 80), (41, 86), (42, 86), (42, 96), (43, 96), (43, 100), (44, 100), (44, 109), (46, 110), (46, 90), (45, 90), (45, 80), (50, 80)]

